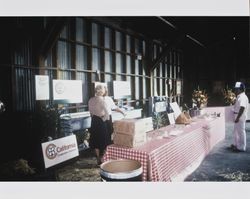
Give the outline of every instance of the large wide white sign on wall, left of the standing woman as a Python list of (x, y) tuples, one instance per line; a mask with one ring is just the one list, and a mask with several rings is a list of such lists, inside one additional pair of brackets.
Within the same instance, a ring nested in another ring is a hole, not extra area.
[(53, 80), (53, 99), (82, 103), (82, 80)]

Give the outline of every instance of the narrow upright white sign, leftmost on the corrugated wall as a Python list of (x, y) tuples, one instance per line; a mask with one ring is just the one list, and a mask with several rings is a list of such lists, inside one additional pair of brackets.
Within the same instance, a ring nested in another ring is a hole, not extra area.
[(49, 76), (36, 75), (36, 100), (49, 100)]

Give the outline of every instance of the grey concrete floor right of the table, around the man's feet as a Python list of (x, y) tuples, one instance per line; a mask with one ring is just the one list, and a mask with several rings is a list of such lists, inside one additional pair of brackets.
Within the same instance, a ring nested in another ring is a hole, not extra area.
[(226, 139), (218, 143), (185, 181), (250, 181), (250, 123), (246, 123), (247, 150), (235, 153), (232, 144), (233, 124), (226, 125)]

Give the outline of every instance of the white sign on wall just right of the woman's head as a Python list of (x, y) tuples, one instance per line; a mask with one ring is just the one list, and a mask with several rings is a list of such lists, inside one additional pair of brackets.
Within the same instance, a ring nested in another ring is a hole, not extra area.
[(129, 81), (113, 81), (114, 99), (122, 99), (131, 96), (131, 86)]

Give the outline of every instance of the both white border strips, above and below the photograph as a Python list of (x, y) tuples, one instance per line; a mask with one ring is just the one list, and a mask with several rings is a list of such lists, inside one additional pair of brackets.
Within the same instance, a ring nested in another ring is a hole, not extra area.
[[(0, 0), (1, 16), (249, 16), (249, 0)], [(249, 182), (0, 182), (4, 199), (235, 199)]]

